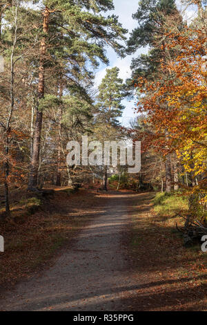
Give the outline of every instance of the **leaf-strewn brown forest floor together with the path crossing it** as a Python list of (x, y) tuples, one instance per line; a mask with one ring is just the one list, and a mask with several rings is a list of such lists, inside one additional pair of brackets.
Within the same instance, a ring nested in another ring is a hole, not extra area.
[[(81, 190), (63, 200), (59, 193), (47, 213), (20, 223), (19, 246), (0, 256), (1, 275), (9, 270), (1, 310), (207, 310), (206, 254), (182, 246), (175, 220), (153, 212), (153, 196)], [(15, 271), (24, 278), (11, 289)]]

